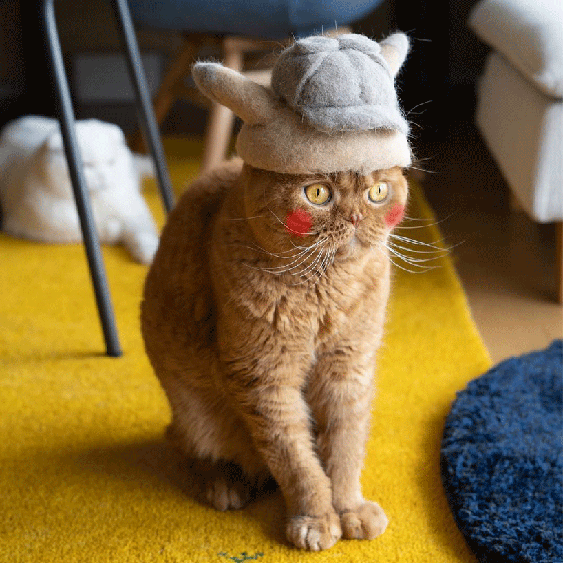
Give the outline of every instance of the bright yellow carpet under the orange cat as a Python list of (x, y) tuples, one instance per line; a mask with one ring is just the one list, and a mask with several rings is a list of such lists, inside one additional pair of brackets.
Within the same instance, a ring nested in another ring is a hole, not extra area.
[[(181, 158), (195, 146), (167, 145), (178, 191), (197, 170)], [(154, 187), (147, 198), (162, 220)], [(412, 199), (412, 217), (431, 217), (416, 188)], [(440, 238), (435, 227), (405, 232)], [(439, 445), (456, 390), (489, 359), (449, 259), (394, 280), (363, 472), (390, 526), (304, 553), (284, 541), (277, 491), (229, 513), (186, 493), (138, 328), (145, 267), (104, 249), (125, 352), (111, 359), (81, 245), (0, 235), (0, 256), (1, 562), (475, 562), (442, 491)]]

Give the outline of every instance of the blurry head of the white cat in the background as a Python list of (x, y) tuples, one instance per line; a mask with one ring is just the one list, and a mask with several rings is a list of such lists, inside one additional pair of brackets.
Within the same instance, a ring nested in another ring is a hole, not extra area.
[[(87, 189), (97, 193), (108, 189), (138, 189), (131, 151), (117, 125), (96, 119), (76, 121), (76, 140), (81, 151)], [(39, 149), (40, 167), (47, 189), (61, 197), (72, 195), (63, 145), (57, 129)]]

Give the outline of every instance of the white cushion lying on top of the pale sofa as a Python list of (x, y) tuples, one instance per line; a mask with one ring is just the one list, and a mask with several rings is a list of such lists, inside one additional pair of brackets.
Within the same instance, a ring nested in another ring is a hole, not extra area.
[(563, 98), (563, 2), (482, 0), (469, 27), (548, 96)]

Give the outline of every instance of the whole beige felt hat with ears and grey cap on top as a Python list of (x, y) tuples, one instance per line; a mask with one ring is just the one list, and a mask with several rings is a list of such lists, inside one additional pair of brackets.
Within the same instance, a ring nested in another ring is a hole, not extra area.
[(394, 78), (407, 37), (381, 43), (363, 35), (312, 36), (277, 60), (270, 87), (217, 63), (196, 63), (196, 85), (242, 121), (237, 152), (279, 173), (367, 174), (411, 162), (408, 125)]

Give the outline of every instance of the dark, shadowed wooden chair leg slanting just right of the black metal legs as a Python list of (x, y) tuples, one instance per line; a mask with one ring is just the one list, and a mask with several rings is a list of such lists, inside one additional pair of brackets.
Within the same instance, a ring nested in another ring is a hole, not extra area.
[[(184, 79), (184, 76), (189, 74), (189, 69), (199, 47), (200, 43), (198, 42), (186, 41), (180, 53), (173, 59), (166, 74), (164, 74), (162, 84), (153, 100), (154, 115), (159, 128), (176, 100), (174, 89)], [(140, 130), (131, 138), (131, 150), (138, 153), (147, 151)]]

